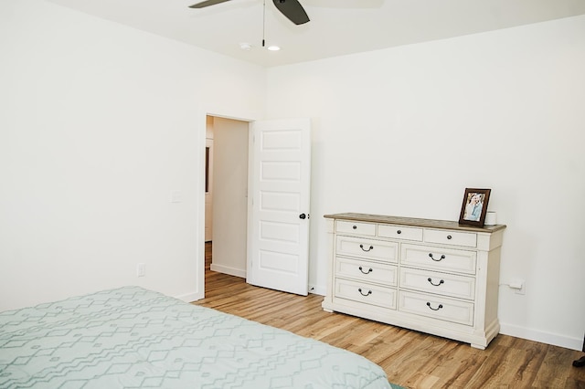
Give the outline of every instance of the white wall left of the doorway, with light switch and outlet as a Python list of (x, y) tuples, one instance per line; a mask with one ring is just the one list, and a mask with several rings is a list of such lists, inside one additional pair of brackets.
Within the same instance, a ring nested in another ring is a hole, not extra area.
[(0, 310), (200, 295), (205, 113), (263, 117), (265, 69), (40, 0), (0, 2), (0, 56)]

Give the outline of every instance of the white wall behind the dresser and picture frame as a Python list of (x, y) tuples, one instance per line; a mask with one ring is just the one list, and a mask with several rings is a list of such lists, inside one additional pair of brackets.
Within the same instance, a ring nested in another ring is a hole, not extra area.
[(270, 68), (268, 117), (312, 117), (310, 282), (324, 214), (457, 220), (492, 189), (506, 224), (502, 332), (580, 350), (585, 331), (585, 16)]

